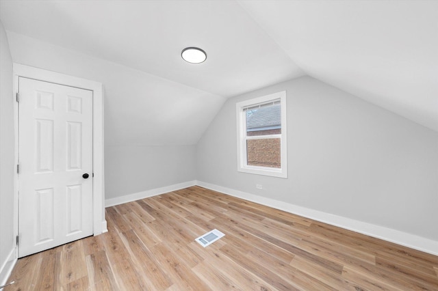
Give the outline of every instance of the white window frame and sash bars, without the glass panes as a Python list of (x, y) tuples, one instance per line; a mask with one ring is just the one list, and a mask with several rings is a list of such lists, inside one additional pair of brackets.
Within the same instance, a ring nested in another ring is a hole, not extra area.
[[(280, 100), (281, 103), (281, 134), (280, 135), (264, 135), (263, 137), (246, 137), (246, 116), (244, 109), (251, 106), (256, 106), (266, 102)], [(237, 120), (237, 171), (258, 174), (264, 176), (272, 176), (279, 178), (287, 178), (287, 118), (286, 118), (286, 92), (276, 92), (266, 96), (253, 98), (236, 103), (236, 120)], [(280, 137), (281, 151), (281, 168), (260, 167), (248, 165), (246, 158), (246, 141), (248, 139), (269, 139)]]

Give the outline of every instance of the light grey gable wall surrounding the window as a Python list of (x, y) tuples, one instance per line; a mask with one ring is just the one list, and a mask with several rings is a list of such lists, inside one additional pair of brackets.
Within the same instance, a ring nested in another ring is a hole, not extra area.
[[(288, 178), (237, 172), (235, 103), (283, 90)], [(438, 133), (311, 77), (227, 100), (196, 158), (202, 182), (438, 242)]]

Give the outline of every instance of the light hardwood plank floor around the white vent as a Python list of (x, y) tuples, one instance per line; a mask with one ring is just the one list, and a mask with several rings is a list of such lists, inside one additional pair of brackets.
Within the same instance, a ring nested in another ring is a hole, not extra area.
[(106, 217), (106, 234), (18, 260), (5, 291), (438, 290), (435, 255), (198, 186)]

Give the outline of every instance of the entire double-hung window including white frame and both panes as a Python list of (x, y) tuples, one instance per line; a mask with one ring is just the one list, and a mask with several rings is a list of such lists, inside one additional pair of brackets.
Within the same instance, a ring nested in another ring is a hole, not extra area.
[(238, 102), (237, 171), (287, 178), (286, 92)]

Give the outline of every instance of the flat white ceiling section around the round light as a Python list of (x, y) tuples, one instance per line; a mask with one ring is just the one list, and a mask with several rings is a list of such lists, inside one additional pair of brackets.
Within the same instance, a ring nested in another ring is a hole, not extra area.
[[(235, 1), (4, 1), (8, 31), (220, 96), (304, 75)], [(208, 55), (181, 59), (187, 46)]]

